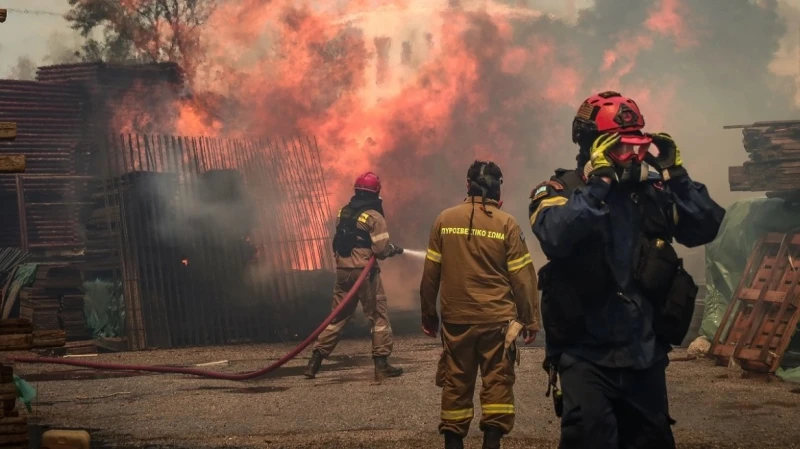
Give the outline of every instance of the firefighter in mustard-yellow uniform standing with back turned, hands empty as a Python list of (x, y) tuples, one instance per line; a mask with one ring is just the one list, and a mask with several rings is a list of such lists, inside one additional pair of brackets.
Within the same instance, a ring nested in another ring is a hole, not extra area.
[(530, 344), (539, 330), (536, 271), (522, 229), (500, 210), (502, 183), (495, 163), (475, 161), (467, 171), (467, 199), (439, 214), (428, 242), (422, 329), (436, 337), (441, 293), (436, 385), (442, 388), (439, 432), (446, 449), (464, 447), (479, 369), (483, 448), (500, 447), (514, 427), (515, 340), (521, 332)]

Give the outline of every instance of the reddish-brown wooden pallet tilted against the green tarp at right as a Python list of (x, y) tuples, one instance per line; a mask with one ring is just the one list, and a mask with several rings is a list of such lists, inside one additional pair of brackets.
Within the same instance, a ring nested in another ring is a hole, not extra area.
[(774, 373), (800, 319), (800, 234), (769, 233), (750, 254), (711, 354), (747, 371)]

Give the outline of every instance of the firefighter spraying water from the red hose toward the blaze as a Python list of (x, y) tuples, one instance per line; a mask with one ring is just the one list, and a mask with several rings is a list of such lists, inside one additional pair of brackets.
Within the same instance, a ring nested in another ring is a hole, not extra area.
[[(380, 197), (381, 180), (375, 173), (367, 172), (356, 179), (355, 195), (339, 210), (333, 250), (336, 257), (336, 284), (333, 288), (333, 308), (353, 288), (356, 279), (372, 255), (383, 260), (402, 254), (403, 249), (389, 243), (389, 231), (383, 215)], [(375, 380), (397, 377), (403, 373), (387, 361), (392, 353), (392, 327), (389, 323), (386, 293), (381, 282), (380, 267), (376, 262), (369, 277), (356, 293), (364, 315), (372, 323), (372, 358), (375, 362)], [(352, 301), (342, 313), (317, 337), (305, 376), (313, 379), (322, 360), (333, 352), (347, 321), (355, 312), (357, 301)]]

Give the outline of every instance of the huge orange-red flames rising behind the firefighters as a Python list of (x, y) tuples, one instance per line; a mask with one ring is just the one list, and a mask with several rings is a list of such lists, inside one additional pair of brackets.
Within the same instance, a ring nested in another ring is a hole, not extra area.
[(571, 117), (594, 91), (634, 97), (649, 130), (673, 123), (688, 81), (657, 71), (655, 55), (696, 57), (720, 39), (685, 0), (571, 20), (492, 1), (301, 3), (223, 2), (191, 65), (195, 95), (169, 131), (314, 135), (333, 207), (360, 172), (378, 172), (392, 234), (409, 247), (423, 247), (435, 214), (460, 199), (477, 157), (503, 168), (505, 207), (525, 220), (530, 188), (571, 163)]

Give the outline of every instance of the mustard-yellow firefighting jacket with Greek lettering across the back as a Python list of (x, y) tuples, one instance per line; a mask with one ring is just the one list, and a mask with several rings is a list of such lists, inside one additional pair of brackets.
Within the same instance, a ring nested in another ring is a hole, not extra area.
[[(488, 324), (518, 319), (539, 330), (539, 292), (525, 236), (514, 217), (481, 197), (443, 211), (431, 228), (420, 285), (422, 317), (436, 317), (441, 293), (442, 321)], [(472, 233), (468, 240), (470, 215)], [(441, 291), (440, 291), (441, 286)]]

